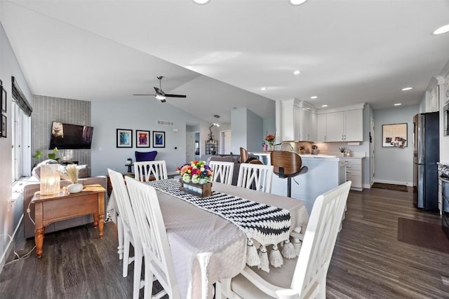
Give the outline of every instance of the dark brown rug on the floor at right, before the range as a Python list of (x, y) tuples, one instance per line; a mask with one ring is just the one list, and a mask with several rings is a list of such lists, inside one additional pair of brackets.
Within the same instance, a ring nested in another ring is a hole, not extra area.
[(449, 239), (438, 224), (398, 218), (398, 241), (449, 253)]

